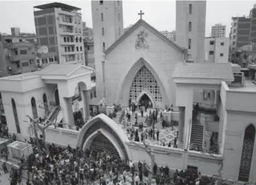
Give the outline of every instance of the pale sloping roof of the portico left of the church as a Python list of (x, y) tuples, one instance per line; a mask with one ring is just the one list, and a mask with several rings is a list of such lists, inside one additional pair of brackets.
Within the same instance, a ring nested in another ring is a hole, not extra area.
[(39, 71), (40, 75), (68, 75), (79, 68), (81, 64), (50, 64)]

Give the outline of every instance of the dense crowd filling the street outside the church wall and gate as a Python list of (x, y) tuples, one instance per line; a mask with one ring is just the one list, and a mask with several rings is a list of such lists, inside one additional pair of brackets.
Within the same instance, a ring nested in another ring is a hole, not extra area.
[[(91, 148), (83, 152), (80, 148), (58, 147), (55, 144), (48, 146), (48, 154), (42, 150), (40, 156), (34, 140), (29, 142), (33, 145), (34, 152), (26, 159), (22, 157), (18, 170), (11, 170), (11, 185), (21, 184), (22, 170), (27, 170), (27, 185), (147, 184), (143, 177), (148, 177), (150, 168), (145, 161), (135, 164), (132, 160), (121, 159), (104, 150)], [(157, 185), (195, 185), (201, 177), (200, 173), (190, 170), (176, 170), (173, 176), (171, 174), (167, 166), (158, 167), (155, 164), (153, 167), (152, 175)]]

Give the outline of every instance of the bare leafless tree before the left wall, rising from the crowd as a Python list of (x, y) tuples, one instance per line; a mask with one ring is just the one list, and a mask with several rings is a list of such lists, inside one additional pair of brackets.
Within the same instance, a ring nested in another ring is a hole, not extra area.
[(48, 154), (48, 146), (47, 146), (46, 140), (45, 140), (45, 130), (48, 127), (50, 127), (51, 125), (55, 125), (55, 128), (57, 127), (57, 115), (58, 115), (58, 112), (60, 111), (60, 107), (56, 107), (56, 108), (57, 108), (57, 110), (56, 109), (54, 110), (54, 111), (56, 111), (55, 112), (56, 117), (55, 117), (55, 119), (52, 119), (52, 121), (49, 121), (49, 118), (51, 117), (50, 114), (46, 115), (46, 117), (47, 117), (46, 120), (42, 121), (41, 123), (39, 122), (38, 118), (32, 119), (32, 117), (26, 115), (26, 117), (28, 117), (30, 120), (30, 127), (28, 127), (28, 129), (30, 128), (30, 130), (34, 131), (35, 138), (37, 140), (37, 144), (38, 144), (38, 147), (40, 150), (39, 154), (42, 154), (42, 152), (41, 152), (41, 147), (40, 147), (39, 140), (38, 140), (38, 130), (40, 130), (42, 132), (42, 137), (43, 137), (42, 140), (43, 140), (43, 144), (45, 147), (45, 153)]

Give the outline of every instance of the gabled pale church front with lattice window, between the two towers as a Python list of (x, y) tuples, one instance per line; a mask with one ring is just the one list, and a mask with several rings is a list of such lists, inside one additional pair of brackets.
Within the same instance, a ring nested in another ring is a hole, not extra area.
[(128, 107), (129, 99), (148, 100), (153, 107), (175, 104), (172, 71), (185, 61), (186, 52), (140, 19), (105, 51), (103, 94), (108, 104)]

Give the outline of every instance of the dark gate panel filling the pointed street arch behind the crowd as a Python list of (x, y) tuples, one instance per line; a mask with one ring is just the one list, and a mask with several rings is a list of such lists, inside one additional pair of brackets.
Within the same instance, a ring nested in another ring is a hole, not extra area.
[(97, 151), (105, 151), (110, 154), (115, 154), (119, 156), (118, 150), (116, 150), (115, 146), (105, 137), (103, 134), (98, 134), (94, 140), (91, 142), (90, 150), (97, 150)]

